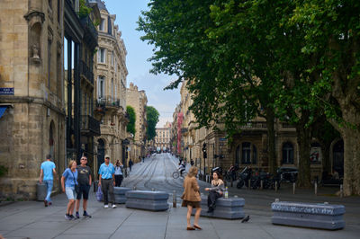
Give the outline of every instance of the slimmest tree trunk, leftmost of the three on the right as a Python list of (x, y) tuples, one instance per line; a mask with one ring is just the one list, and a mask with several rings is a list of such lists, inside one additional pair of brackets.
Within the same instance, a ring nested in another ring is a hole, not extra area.
[(269, 172), (275, 174), (277, 169), (276, 164), (276, 149), (275, 149), (275, 113), (271, 108), (266, 108), (266, 127), (267, 127), (267, 146), (268, 146), (268, 163)]

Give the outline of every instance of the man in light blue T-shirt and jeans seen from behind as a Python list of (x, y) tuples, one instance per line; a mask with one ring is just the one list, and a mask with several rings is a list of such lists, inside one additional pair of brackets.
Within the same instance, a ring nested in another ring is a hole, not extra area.
[[(54, 181), (54, 175), (56, 175), (55, 164), (51, 162), (51, 155), (46, 155), (46, 161), (43, 162), (40, 166), (40, 179), (39, 179), (40, 183), (44, 181), (48, 189), (48, 193), (46, 195), (46, 198), (44, 199), (45, 207), (48, 207), (48, 204), (51, 205), (50, 196)], [(43, 179), (42, 176), (44, 177)]]

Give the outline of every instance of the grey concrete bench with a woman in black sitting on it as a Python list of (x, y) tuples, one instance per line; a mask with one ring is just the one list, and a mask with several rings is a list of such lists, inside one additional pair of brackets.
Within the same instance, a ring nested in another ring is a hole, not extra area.
[[(224, 219), (240, 219), (244, 218), (245, 199), (242, 198), (220, 198), (216, 200), (216, 208), (213, 212), (208, 213), (208, 197), (202, 196), (202, 217), (218, 217)], [(193, 209), (193, 214), (195, 209)]]

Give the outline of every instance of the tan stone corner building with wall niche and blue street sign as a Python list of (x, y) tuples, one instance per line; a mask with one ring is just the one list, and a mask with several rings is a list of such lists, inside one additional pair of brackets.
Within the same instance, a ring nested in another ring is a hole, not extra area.
[(88, 91), (92, 98), (87, 60), (92, 55), (85, 55), (97, 44), (91, 29), (97, 6), (87, 1), (85, 6), (92, 13), (80, 19), (76, 12), (84, 5), (78, 0), (0, 2), (0, 130), (6, 138), (0, 165), (7, 168), (0, 198), (35, 199), (48, 154), (57, 165), (53, 190), (58, 191), (69, 158), (86, 153), (85, 140), (96, 134), (96, 126), (90, 132), (81, 117), (86, 115), (81, 97)]

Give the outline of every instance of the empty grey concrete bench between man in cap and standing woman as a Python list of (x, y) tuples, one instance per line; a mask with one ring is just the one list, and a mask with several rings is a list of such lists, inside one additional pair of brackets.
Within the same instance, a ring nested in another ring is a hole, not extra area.
[(126, 208), (138, 208), (150, 211), (168, 209), (168, 193), (152, 190), (129, 190), (126, 192)]

